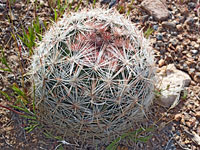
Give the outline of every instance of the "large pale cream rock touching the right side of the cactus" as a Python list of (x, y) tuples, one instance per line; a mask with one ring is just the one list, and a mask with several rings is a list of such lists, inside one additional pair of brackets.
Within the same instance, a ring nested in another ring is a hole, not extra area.
[(185, 72), (182, 72), (169, 64), (160, 68), (156, 88), (160, 90), (160, 96), (157, 99), (158, 104), (164, 107), (173, 108), (180, 98), (180, 93), (184, 87), (189, 86), (191, 78)]

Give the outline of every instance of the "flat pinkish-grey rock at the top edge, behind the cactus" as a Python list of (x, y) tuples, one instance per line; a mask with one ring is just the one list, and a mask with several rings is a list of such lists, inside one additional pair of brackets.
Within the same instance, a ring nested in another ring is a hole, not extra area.
[(141, 6), (158, 21), (166, 20), (169, 16), (169, 11), (160, 0), (144, 0)]

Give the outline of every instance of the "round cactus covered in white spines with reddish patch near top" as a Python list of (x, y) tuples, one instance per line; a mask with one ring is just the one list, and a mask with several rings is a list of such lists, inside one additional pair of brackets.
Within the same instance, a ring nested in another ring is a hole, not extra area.
[(153, 100), (149, 42), (113, 10), (65, 15), (39, 43), (31, 70), (41, 123), (68, 139), (109, 142)]

